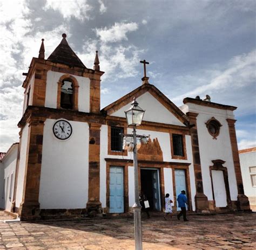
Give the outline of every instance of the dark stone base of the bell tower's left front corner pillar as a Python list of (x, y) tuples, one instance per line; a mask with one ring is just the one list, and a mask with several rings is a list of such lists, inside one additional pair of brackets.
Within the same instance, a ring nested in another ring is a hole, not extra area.
[(39, 220), (40, 217), (40, 204), (39, 203), (21, 203), (19, 206), (18, 216), (21, 221)]

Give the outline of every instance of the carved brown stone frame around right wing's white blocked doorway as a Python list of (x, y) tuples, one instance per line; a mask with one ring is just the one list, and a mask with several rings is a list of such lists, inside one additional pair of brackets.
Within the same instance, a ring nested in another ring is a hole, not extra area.
[(221, 159), (215, 159), (212, 161), (213, 166), (210, 166), (210, 176), (211, 176), (211, 184), (212, 184), (212, 197), (214, 200), (214, 208), (215, 206), (215, 198), (214, 198), (214, 189), (213, 189), (213, 179), (212, 179), (212, 170), (217, 170), (217, 171), (223, 171), (223, 177), (224, 177), (224, 183), (225, 183), (225, 190), (226, 190), (226, 197), (227, 197), (227, 209), (231, 209), (231, 197), (230, 197), (230, 186), (228, 184), (228, 173), (227, 173), (227, 168), (226, 166), (223, 166), (225, 161)]

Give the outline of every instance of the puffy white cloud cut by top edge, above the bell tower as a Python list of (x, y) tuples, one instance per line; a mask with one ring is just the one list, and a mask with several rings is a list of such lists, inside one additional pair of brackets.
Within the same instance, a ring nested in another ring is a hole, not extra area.
[(79, 1), (55, 1), (46, 0), (44, 10), (53, 9), (59, 11), (63, 18), (70, 19), (75, 17), (80, 21), (90, 19), (89, 12), (92, 10), (92, 6), (87, 3), (87, 0)]

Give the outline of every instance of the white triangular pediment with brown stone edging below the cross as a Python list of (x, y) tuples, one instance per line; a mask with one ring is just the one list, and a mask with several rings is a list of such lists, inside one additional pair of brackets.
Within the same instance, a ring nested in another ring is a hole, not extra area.
[(146, 110), (143, 120), (149, 122), (166, 123), (177, 126), (186, 126), (188, 117), (171, 102), (158, 88), (151, 84), (142, 85), (116, 102), (103, 109), (107, 115), (124, 117), (125, 111), (131, 107), (133, 98), (139, 106)]

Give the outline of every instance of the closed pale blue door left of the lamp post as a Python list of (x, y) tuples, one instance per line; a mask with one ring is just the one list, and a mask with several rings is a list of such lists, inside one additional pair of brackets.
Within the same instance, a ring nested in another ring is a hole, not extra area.
[(124, 173), (122, 166), (110, 167), (110, 213), (124, 212)]

